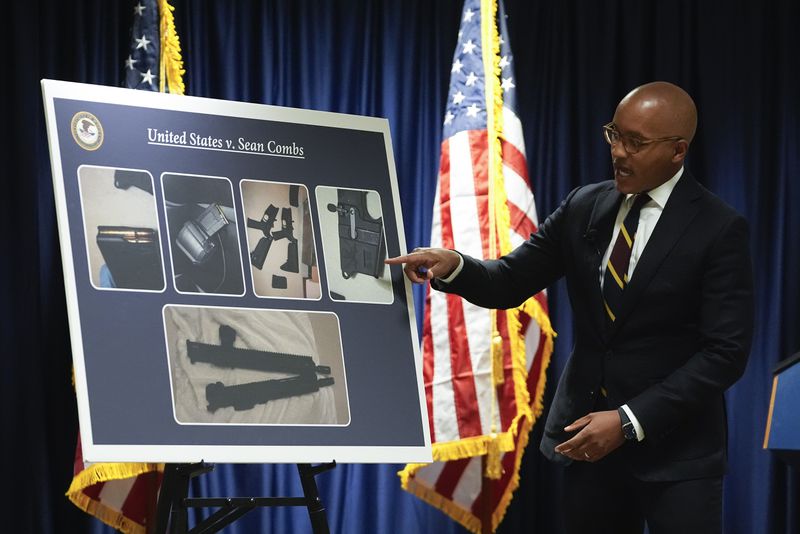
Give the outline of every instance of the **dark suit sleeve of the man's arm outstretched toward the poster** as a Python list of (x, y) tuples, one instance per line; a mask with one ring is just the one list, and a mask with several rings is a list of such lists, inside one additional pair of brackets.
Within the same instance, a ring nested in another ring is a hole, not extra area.
[(497, 260), (481, 261), (462, 254), (464, 267), (449, 284), (434, 280), (434, 289), (455, 293), (484, 308), (519, 306), (564, 275), (564, 235), (573, 190), (530, 239)]

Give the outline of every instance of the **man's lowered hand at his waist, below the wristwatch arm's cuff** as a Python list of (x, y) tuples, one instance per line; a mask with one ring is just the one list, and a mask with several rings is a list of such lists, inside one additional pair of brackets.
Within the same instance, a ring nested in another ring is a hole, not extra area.
[(566, 432), (578, 429), (580, 432), (556, 446), (557, 453), (579, 462), (596, 462), (625, 443), (617, 410), (592, 412), (564, 427)]

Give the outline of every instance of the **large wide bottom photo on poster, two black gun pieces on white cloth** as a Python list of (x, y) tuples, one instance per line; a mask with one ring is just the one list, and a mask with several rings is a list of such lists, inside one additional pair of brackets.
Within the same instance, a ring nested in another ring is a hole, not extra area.
[(167, 305), (163, 315), (178, 423), (349, 424), (335, 314)]

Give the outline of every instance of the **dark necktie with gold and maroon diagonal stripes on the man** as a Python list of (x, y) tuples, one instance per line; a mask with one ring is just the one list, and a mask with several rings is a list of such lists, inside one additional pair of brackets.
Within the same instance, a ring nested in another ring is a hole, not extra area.
[(633, 206), (619, 227), (619, 235), (611, 249), (611, 256), (606, 265), (606, 275), (603, 278), (603, 304), (609, 324), (616, 319), (622, 302), (622, 291), (628, 285), (628, 266), (631, 262), (631, 249), (633, 240), (636, 239), (636, 228), (639, 226), (639, 213), (650, 197), (647, 194), (636, 195)]

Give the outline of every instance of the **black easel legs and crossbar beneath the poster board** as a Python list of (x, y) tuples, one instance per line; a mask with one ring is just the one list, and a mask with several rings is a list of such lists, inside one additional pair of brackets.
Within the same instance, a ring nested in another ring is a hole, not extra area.
[[(314, 534), (329, 534), (325, 507), (319, 498), (314, 477), (336, 467), (336, 462), (312, 466), (297, 464), (303, 497), (217, 497), (188, 498), (189, 482), (192, 478), (208, 473), (213, 465), (166, 464), (161, 493), (156, 510), (155, 534), (211, 534), (219, 532), (247, 512), (262, 506), (305, 506), (311, 519)], [(189, 508), (219, 507), (219, 510), (200, 521), (189, 530)]]

